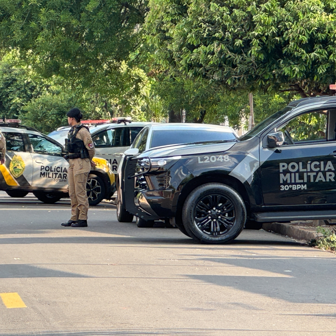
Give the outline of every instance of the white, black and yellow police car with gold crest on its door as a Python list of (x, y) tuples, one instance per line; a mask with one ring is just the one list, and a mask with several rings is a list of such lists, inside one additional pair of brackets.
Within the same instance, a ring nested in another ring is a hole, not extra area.
[[(12, 197), (25, 197), (32, 192), (44, 203), (55, 203), (68, 197), (69, 163), (62, 155), (65, 148), (50, 137), (19, 125), (19, 120), (0, 123), (6, 138), (6, 162), (0, 165), (0, 190)], [(115, 175), (110, 164), (94, 157), (97, 166), (91, 168), (87, 194), (90, 205), (110, 198), (115, 188)]]

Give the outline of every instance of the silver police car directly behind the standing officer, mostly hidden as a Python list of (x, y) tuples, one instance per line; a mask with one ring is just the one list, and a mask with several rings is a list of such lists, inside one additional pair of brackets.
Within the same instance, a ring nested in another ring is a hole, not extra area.
[[(82, 120), (81, 123), (89, 127), (95, 146), (95, 155), (106, 159), (115, 174), (123, 153), (130, 147), (141, 129), (151, 124), (134, 122), (130, 117), (115, 117), (111, 120)], [(48, 136), (64, 145), (70, 128), (71, 126), (59, 127)]]

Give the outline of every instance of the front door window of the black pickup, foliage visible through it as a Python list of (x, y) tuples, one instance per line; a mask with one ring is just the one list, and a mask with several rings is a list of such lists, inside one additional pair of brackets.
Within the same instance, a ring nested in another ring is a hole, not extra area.
[(288, 135), (290, 135), (294, 143), (326, 140), (327, 119), (327, 110), (308, 112), (296, 116), (285, 126), (280, 127), (279, 130), (285, 133), (285, 141), (287, 144), (290, 143)]

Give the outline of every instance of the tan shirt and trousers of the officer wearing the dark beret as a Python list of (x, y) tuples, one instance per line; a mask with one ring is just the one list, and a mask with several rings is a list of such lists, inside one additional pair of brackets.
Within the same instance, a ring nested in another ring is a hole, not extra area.
[(90, 161), (95, 150), (90, 132), (82, 127), (76, 134), (76, 138), (82, 140), (89, 152), (89, 159), (69, 160), (69, 196), (71, 199), (71, 220), (87, 219), (89, 202), (86, 195), (86, 181), (91, 170)]

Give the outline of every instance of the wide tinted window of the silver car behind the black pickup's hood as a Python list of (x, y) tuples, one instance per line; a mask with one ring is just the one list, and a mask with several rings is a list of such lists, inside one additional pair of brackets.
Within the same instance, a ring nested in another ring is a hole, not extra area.
[(178, 143), (234, 139), (236, 139), (236, 135), (230, 132), (208, 131), (201, 129), (154, 130), (150, 148)]

